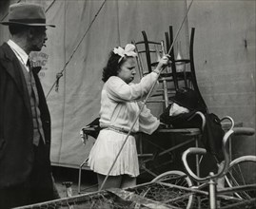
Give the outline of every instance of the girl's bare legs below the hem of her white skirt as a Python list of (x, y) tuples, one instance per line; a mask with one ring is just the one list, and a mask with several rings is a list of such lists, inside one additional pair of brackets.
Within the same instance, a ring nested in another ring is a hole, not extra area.
[[(105, 178), (106, 178), (105, 175), (97, 174), (99, 189), (101, 188), (101, 185), (102, 185), (103, 181), (105, 180)], [(102, 189), (121, 188), (121, 181), (122, 181), (122, 176), (108, 176), (108, 180), (106, 180)]]

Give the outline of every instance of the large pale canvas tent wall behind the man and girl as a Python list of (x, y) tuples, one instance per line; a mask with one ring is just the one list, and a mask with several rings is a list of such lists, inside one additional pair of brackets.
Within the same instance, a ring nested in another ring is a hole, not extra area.
[[(13, 2), (21, 1), (1, 1), (1, 20), (7, 20)], [(30, 2), (42, 4), (49, 23), (56, 25), (47, 30), (47, 47), (33, 54), (43, 65), (40, 78), (52, 120), (51, 161), (77, 167), (88, 156), (93, 142), (90, 139), (84, 146), (79, 132), (98, 117), (102, 68), (110, 49), (125, 46), (133, 39), (141, 40), (142, 30), (152, 40), (164, 39), (168, 26), (176, 32), (190, 1)], [(210, 111), (255, 127), (255, 1), (195, 0), (187, 17), (178, 40), (186, 55), (188, 28), (196, 28), (196, 73)], [(8, 28), (0, 26), (0, 44), (8, 39)], [(56, 92), (53, 84), (61, 71), (63, 77)], [(155, 106), (152, 108), (154, 114), (161, 113)], [(255, 154), (255, 146), (255, 137), (246, 138), (239, 142), (237, 155)]]

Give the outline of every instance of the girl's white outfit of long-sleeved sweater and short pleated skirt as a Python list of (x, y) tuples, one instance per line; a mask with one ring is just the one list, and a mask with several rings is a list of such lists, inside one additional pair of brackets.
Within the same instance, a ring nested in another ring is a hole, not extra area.
[[(139, 84), (127, 84), (117, 76), (111, 76), (105, 83), (101, 94), (100, 126), (103, 128), (89, 153), (89, 167), (96, 173), (107, 175), (113, 161), (127, 138), (142, 103), (139, 102), (148, 94), (150, 87), (157, 79), (155, 72), (145, 76)], [(144, 105), (139, 120), (131, 132), (138, 131), (151, 134), (159, 120)], [(122, 131), (123, 130), (123, 131)], [(109, 175), (139, 175), (139, 163), (136, 142), (133, 135), (128, 136), (117, 161)]]

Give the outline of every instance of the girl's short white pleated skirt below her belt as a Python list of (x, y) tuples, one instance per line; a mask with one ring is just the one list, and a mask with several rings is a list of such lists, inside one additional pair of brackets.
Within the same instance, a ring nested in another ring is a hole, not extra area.
[[(114, 130), (103, 129), (89, 153), (89, 167), (96, 173), (108, 175), (109, 169), (115, 161), (127, 134)], [(127, 174), (131, 177), (139, 175), (139, 161), (135, 138), (128, 136), (119, 157), (114, 163), (109, 176)]]

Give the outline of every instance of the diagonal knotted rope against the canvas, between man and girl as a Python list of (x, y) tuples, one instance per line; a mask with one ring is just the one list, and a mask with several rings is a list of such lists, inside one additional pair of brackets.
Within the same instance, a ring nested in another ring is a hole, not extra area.
[(105, 3), (107, 2), (107, 0), (104, 0), (104, 2), (102, 3), (100, 9), (96, 12), (96, 14), (94, 15), (94, 18), (92, 19), (92, 21), (89, 24), (89, 28), (86, 30), (85, 34), (83, 35), (83, 37), (81, 38), (81, 40), (79, 41), (78, 45), (74, 48), (74, 50), (72, 51), (69, 60), (66, 62), (65, 66), (63, 67), (63, 69), (58, 72), (56, 74), (56, 80), (53, 83), (53, 85), (51, 85), (49, 92), (46, 96), (46, 98), (48, 98), (50, 91), (52, 90), (52, 88), (55, 86), (55, 91), (58, 91), (59, 88), (59, 80), (60, 78), (63, 76), (63, 72), (66, 70), (66, 67), (69, 65), (70, 60), (72, 59), (73, 55), (75, 54), (76, 50), (78, 49), (78, 47), (81, 45), (81, 43), (83, 42), (84, 38), (87, 36), (89, 29), (91, 28), (92, 24), (94, 23), (94, 21), (96, 20), (98, 14), (100, 13), (100, 11), (103, 9), (103, 6), (105, 5)]

